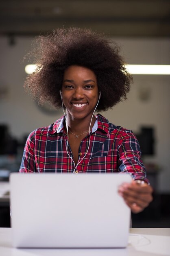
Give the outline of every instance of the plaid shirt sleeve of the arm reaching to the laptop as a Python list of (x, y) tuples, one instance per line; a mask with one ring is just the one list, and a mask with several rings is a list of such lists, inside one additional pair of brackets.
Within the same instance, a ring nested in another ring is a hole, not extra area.
[(119, 171), (129, 173), (133, 180), (144, 180), (149, 184), (146, 178), (146, 169), (141, 159), (142, 153), (139, 142), (133, 132), (127, 130), (121, 136), (119, 143)]

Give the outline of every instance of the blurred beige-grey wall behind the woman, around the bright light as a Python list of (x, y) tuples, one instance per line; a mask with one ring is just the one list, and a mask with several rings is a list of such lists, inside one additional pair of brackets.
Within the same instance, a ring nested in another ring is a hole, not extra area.
[[(0, 124), (8, 124), (11, 135), (22, 138), (37, 127), (47, 126), (62, 115), (46, 115), (24, 92), (26, 78), (22, 58), (31, 45), (31, 37), (0, 37), (0, 89), (7, 92), (0, 97)], [(129, 64), (170, 64), (169, 39), (113, 38), (122, 46), (122, 55)], [(134, 75), (134, 83), (127, 101), (113, 110), (103, 112), (114, 124), (140, 132), (141, 126), (155, 128), (155, 156), (146, 160), (160, 168), (159, 191), (170, 192), (170, 76)]]

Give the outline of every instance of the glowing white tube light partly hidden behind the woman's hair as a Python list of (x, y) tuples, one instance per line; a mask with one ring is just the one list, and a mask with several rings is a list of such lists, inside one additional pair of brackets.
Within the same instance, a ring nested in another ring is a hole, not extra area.
[[(130, 74), (141, 75), (170, 75), (170, 65), (125, 65)], [(32, 74), (37, 65), (26, 65), (25, 72)]]

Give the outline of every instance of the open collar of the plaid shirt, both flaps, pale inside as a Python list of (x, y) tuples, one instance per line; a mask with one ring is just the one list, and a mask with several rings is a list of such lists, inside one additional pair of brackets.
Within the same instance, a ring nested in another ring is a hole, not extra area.
[[(64, 121), (65, 121), (65, 116), (55, 121), (52, 129), (53, 133), (63, 132)], [(96, 115), (96, 121), (94, 123), (94, 126), (92, 127), (92, 132), (96, 132), (96, 130), (98, 129), (103, 130), (106, 133), (109, 132), (109, 121), (100, 114)]]

